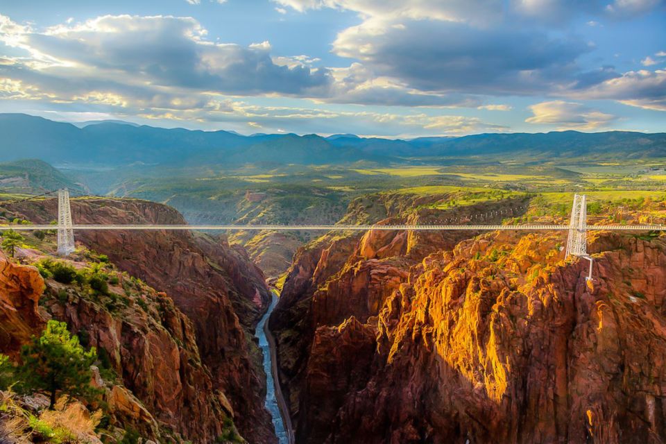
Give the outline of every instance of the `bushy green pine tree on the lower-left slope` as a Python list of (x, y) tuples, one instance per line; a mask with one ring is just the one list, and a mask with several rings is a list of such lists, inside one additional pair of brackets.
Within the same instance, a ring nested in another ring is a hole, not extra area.
[(22, 366), (17, 373), (23, 391), (49, 395), (49, 409), (56, 404), (58, 392), (71, 396), (92, 394), (90, 366), (96, 361), (95, 348), (86, 352), (78, 336), (70, 336), (67, 324), (49, 321), (42, 336), (21, 350)]

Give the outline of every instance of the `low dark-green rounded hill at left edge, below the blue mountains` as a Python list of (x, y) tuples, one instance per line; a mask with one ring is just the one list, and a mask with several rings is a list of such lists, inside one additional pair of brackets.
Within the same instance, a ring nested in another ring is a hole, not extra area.
[(38, 193), (59, 188), (82, 191), (80, 185), (42, 160), (0, 162), (0, 190), (2, 191)]

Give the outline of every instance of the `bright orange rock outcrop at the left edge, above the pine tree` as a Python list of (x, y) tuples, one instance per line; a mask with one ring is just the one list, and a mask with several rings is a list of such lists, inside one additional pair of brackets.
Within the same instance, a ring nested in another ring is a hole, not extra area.
[(0, 350), (17, 355), (44, 326), (38, 302), (44, 280), (37, 268), (16, 264), (0, 252)]

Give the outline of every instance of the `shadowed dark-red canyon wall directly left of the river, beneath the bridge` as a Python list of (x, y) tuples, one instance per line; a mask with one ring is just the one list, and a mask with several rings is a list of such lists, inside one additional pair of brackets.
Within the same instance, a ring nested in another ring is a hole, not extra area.
[[(53, 204), (40, 205), (26, 205), (22, 211), (32, 221), (49, 221), (49, 214), (55, 214), (49, 207)], [(184, 223), (176, 210), (141, 200), (73, 200), (72, 214), (77, 223)], [(250, 340), (271, 296), (262, 272), (244, 250), (223, 239), (190, 232), (77, 235), (121, 270), (173, 299), (191, 320), (201, 361), (210, 370), (213, 386), (228, 399), (241, 435), (250, 443), (275, 442), (264, 408), (261, 355)]]

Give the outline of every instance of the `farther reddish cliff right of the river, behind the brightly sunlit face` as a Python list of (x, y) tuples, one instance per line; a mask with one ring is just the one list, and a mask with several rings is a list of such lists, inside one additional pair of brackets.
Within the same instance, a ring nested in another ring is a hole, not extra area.
[[(368, 218), (381, 214), (388, 218), (378, 221), (378, 225), (429, 223), (448, 213), (428, 209), (413, 212), (413, 205), (418, 207), (436, 200), (432, 196), (381, 195), (382, 205), (371, 205), (373, 215), (352, 204), (350, 214), (343, 220), (366, 223)], [(485, 210), (486, 205), (470, 205), (461, 214)], [(497, 210), (511, 205), (516, 205), (514, 200), (495, 203)], [(289, 395), (297, 425), (299, 412), (303, 411), (301, 391), (318, 327), (337, 327), (350, 316), (361, 323), (370, 323), (391, 294), (407, 282), (413, 264), (425, 255), (453, 248), (469, 236), (470, 232), (369, 230), (362, 235), (333, 232), (296, 253), (269, 325), (278, 341), (283, 391)]]

